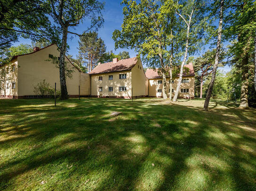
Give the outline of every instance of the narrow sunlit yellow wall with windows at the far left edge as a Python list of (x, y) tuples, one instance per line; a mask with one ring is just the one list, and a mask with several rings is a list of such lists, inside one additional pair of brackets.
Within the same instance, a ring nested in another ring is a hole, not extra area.
[[(11, 71), (12, 67), (15, 67), (15, 71)], [(17, 96), (18, 95), (18, 64), (17, 59), (13, 60), (10, 64), (5, 66), (5, 68), (8, 68), (8, 73), (6, 74), (6, 80), (5, 82), (2, 82), (2, 85), (4, 89), (0, 91), (0, 95), (8, 95), (8, 96)], [(15, 88), (12, 88), (12, 83), (15, 83)]]

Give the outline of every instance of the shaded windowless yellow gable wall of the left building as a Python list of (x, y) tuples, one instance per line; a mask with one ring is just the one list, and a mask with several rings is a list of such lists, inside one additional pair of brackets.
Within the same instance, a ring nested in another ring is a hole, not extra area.
[[(54, 87), (56, 82), (57, 89), (60, 90), (59, 69), (56, 68), (52, 61), (47, 61), (49, 59), (49, 54), (56, 57), (59, 56), (59, 51), (56, 45), (49, 46), (32, 54), (18, 56), (19, 96), (35, 95), (33, 92), (34, 86), (44, 79), (52, 87)], [(78, 95), (81, 72), (75, 69), (67, 58), (65, 58), (65, 61), (68, 66), (74, 70), (72, 78), (66, 77), (67, 92), (69, 95)], [(90, 78), (88, 74), (84, 75), (87, 75)], [(85, 87), (86, 85), (89, 87), (90, 83), (83, 84), (84, 91), (87, 89), (87, 87)], [(83, 95), (82, 93), (80, 94)]]

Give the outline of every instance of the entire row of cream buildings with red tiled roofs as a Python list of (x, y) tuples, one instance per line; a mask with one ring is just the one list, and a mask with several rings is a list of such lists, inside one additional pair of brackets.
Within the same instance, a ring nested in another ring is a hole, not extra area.
[[(56, 45), (45, 48), (34, 48), (33, 53), (13, 57), (8, 66), (6, 80), (1, 84), (0, 97), (4, 98), (36, 98), (34, 87), (45, 80), (51, 87), (57, 84), (60, 90), (58, 65), (53, 58), (58, 58), (59, 51)], [(78, 97), (79, 86), (81, 96), (103, 98), (140, 98), (162, 97), (163, 81), (157, 69), (147, 69), (146, 73), (140, 58), (134, 57), (118, 61), (98, 63), (90, 72), (83, 73), (66, 57), (66, 67), (72, 69), (72, 77), (66, 76), (66, 85), (69, 97)], [(182, 76), (179, 92), (180, 98), (194, 98), (194, 69), (192, 64), (184, 66), (189, 72)], [(2, 80), (1, 80), (2, 81)], [(173, 83), (173, 90), (170, 90)], [(175, 92), (178, 76), (169, 82), (167, 77), (166, 91)]]

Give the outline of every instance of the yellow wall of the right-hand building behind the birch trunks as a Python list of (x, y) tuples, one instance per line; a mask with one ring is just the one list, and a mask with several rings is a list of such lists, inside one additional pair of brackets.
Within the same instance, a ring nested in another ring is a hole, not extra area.
[[(178, 84), (178, 79), (179, 78), (174, 78), (173, 82), (173, 95), (175, 93), (177, 84)], [(195, 94), (195, 78), (194, 76), (188, 76), (188, 77), (182, 77), (182, 79), (189, 79), (189, 83), (182, 83), (180, 89), (189, 89), (189, 92), (182, 93), (181, 90), (179, 92), (179, 97), (194, 97)], [(157, 92), (158, 89), (162, 89), (163, 91), (163, 84), (158, 84), (158, 80), (162, 80), (162, 78), (156, 78), (156, 79), (149, 79), (149, 96), (157, 96), (161, 97), (163, 96), (163, 93)], [(170, 84), (169, 84), (169, 78), (166, 78), (166, 91), (169, 95), (169, 89), (170, 89)], [(172, 91), (172, 90), (171, 90)]]

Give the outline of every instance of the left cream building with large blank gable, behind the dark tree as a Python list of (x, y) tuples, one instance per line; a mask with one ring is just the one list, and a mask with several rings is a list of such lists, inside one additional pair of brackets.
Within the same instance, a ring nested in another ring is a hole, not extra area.
[[(35, 98), (34, 86), (45, 80), (51, 87), (57, 86), (60, 90), (59, 69), (52, 63), (52, 57), (58, 57), (59, 51), (56, 45), (39, 49), (35, 47), (33, 53), (15, 56), (8, 67), (7, 78), (3, 82), (0, 97), (6, 98)], [(72, 78), (66, 77), (67, 92), (69, 97), (86, 96), (89, 94), (90, 76), (76, 69), (65, 58), (68, 68), (73, 69)]]

